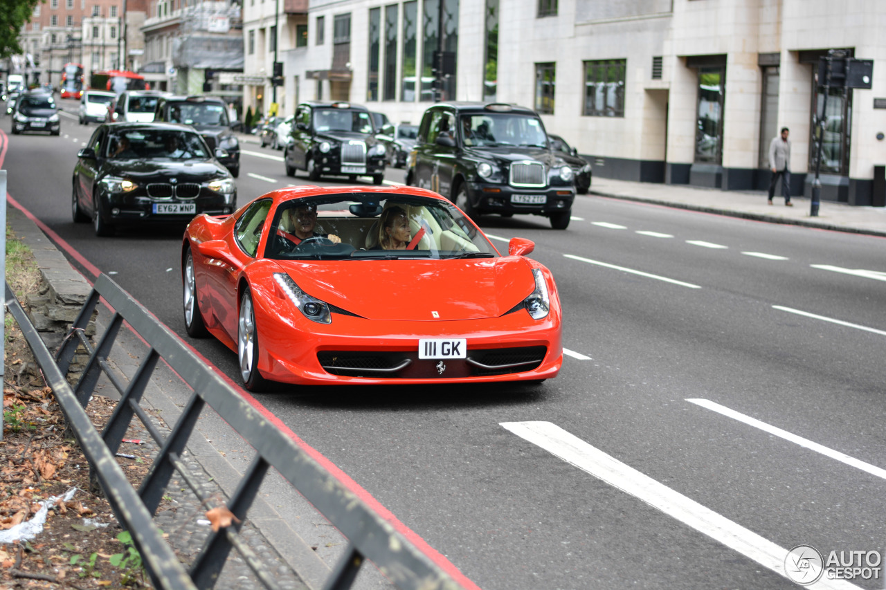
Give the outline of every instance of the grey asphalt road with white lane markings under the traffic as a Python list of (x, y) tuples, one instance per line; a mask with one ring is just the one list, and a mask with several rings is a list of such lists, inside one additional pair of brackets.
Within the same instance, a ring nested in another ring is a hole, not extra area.
[[(186, 338), (181, 229), (71, 221), (94, 129), (9, 136), (10, 195)], [(242, 149), (238, 204), (307, 183)], [(784, 549), (882, 556), (886, 243), (597, 197), (573, 215), (480, 223), (556, 277), (556, 379), (255, 397), (486, 590), (789, 588)], [(235, 353), (186, 339), (239, 382)]]

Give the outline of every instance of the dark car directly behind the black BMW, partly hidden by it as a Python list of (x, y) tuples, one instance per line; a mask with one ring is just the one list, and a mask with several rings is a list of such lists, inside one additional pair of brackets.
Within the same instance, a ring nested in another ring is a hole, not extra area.
[(154, 120), (184, 123), (197, 129), (230, 174), (234, 178), (240, 175), (240, 144), (231, 131), (236, 123), (229, 119), (228, 105), (221, 98), (160, 97)]

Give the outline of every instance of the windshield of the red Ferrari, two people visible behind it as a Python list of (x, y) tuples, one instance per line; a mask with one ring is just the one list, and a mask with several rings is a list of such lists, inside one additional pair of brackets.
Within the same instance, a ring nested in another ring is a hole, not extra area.
[(494, 258), (486, 237), (455, 206), (434, 198), (346, 193), (277, 206), (265, 258), (409, 260)]

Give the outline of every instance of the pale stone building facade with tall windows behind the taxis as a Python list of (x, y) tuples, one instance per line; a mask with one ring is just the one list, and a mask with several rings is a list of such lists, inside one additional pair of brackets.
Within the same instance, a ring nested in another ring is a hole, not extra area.
[[(275, 3), (246, 3), (245, 74), (268, 77)], [(312, 0), (297, 19), (279, 12), (284, 113), (339, 99), (417, 123), (435, 93), (517, 103), (595, 175), (723, 190), (766, 188), (768, 144), (788, 127), (792, 189), (809, 194), (818, 62), (843, 50), (874, 60), (873, 88), (828, 94), (821, 198), (869, 204), (886, 164), (881, 2)], [(269, 89), (247, 89), (245, 104), (267, 113)]]

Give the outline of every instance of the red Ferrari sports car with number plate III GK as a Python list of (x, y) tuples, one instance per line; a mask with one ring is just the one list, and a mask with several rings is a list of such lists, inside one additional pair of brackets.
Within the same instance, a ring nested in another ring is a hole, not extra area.
[(182, 248), (184, 323), (237, 351), (247, 389), (542, 381), (563, 362), (548, 268), (502, 256), (413, 187), (275, 190), (200, 214)]

